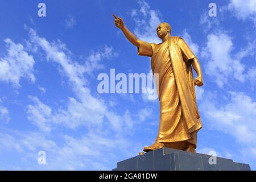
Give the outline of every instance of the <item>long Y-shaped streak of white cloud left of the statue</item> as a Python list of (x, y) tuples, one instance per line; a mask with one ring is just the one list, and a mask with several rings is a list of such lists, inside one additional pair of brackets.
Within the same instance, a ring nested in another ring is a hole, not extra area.
[[(59, 109), (55, 114), (50, 115), (49, 119), (51, 119), (51, 122), (62, 123), (72, 129), (81, 125), (101, 125), (104, 114), (107, 111), (107, 106), (103, 100), (93, 97), (90, 94), (90, 89), (86, 87), (87, 80), (84, 74), (96, 69), (96, 65), (98, 65), (101, 59), (110, 59), (112, 56), (116, 56), (112, 48), (106, 46), (103, 52), (93, 52), (86, 59), (84, 66), (70, 59), (69, 52), (64, 44), (60, 42), (49, 43), (46, 39), (40, 38), (32, 29), (30, 29), (30, 38), (32, 43), (43, 49), (48, 61), (53, 61), (61, 65), (62, 72), (68, 77), (73, 92), (75, 92), (77, 98), (80, 100), (77, 101), (75, 98), (70, 97), (68, 110)], [(31, 110), (32, 106), (28, 107), (28, 109)], [(31, 112), (28, 113), (31, 114)], [(35, 117), (31, 118), (35, 119)], [(42, 127), (40, 128), (43, 129), (46, 121), (40, 114), (39, 118), (42, 118), (42, 121), (37, 120), (34, 122), (42, 122)], [(47, 131), (47, 129), (44, 131)]]

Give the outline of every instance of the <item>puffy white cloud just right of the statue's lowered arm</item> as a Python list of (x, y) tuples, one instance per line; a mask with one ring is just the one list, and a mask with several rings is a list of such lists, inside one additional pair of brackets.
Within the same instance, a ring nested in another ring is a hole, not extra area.
[(209, 60), (205, 72), (214, 78), (220, 88), (228, 82), (229, 76), (245, 81), (245, 66), (232, 56), (233, 48), (232, 38), (224, 32), (207, 36), (207, 47), (203, 49), (201, 56)]

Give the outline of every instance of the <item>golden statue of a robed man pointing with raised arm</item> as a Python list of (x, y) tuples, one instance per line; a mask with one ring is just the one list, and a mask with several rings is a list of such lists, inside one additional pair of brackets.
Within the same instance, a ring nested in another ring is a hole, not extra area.
[[(115, 26), (138, 47), (138, 55), (151, 57), (152, 72), (159, 74), (160, 121), (155, 143), (144, 147), (148, 152), (162, 147), (196, 152), (197, 131), (202, 127), (196, 104), (195, 85), (203, 85), (202, 71), (191, 49), (178, 36), (171, 36), (170, 24), (156, 28), (162, 43), (143, 42), (131, 33), (123, 20), (114, 16)], [(197, 73), (193, 80), (192, 67)]]

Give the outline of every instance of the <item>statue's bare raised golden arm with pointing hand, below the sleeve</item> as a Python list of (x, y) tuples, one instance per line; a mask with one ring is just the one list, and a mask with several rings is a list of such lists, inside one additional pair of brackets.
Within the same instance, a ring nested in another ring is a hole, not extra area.
[(137, 37), (128, 30), (128, 28), (123, 23), (122, 18), (119, 18), (119, 17), (115, 16), (114, 14), (113, 14), (113, 16), (115, 18), (115, 20), (114, 20), (115, 26), (122, 30), (123, 34), (125, 34), (126, 38), (132, 44), (134, 44), (134, 46), (139, 47), (139, 39), (137, 39)]

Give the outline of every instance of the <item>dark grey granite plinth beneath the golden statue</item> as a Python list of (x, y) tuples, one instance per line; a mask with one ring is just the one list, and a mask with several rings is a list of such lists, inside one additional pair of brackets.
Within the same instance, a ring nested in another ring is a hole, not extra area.
[(249, 164), (217, 157), (209, 164), (210, 155), (194, 154), (172, 148), (160, 148), (117, 163), (113, 171), (250, 171)]

